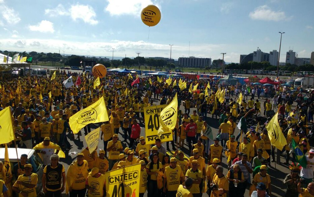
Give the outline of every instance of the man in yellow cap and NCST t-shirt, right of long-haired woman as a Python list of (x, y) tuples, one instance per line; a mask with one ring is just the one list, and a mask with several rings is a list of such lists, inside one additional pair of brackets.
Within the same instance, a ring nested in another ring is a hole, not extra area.
[(181, 167), (177, 165), (177, 159), (172, 157), (170, 159), (170, 166), (165, 167), (163, 192), (166, 193), (166, 196), (175, 196), (179, 185), (183, 182), (184, 175)]

